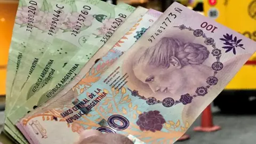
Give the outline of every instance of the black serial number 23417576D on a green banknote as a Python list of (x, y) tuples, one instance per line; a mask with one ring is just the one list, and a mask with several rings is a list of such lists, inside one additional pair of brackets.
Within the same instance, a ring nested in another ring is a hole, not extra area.
[(87, 6), (87, 5), (84, 5), (83, 8), (85, 10), (82, 10), (81, 11), (81, 14), (78, 15), (78, 18), (77, 18), (77, 22), (76, 22), (76, 27), (74, 28), (74, 30), (72, 31), (73, 33), (71, 33), (71, 35), (73, 36), (76, 36), (78, 34), (78, 31), (81, 29), (82, 27), (82, 23), (84, 22), (84, 20), (86, 19), (85, 18), (85, 15), (88, 15), (89, 12), (87, 12), (86, 10), (91, 10), (91, 7), (90, 6)]

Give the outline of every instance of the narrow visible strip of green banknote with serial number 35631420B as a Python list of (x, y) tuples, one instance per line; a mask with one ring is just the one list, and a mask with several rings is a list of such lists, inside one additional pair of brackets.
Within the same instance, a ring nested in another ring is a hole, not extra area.
[[(121, 26), (122, 23), (125, 22), (126, 19), (129, 17), (129, 15), (135, 10), (131, 9), (131, 11), (127, 11), (127, 9), (130, 9), (130, 5), (117, 5), (117, 7), (115, 8), (115, 17), (112, 20), (108, 20), (106, 22), (105, 27), (108, 27), (109, 30), (107, 29), (107, 31), (102, 33), (100, 36), (98, 35), (97, 37), (99, 38), (87, 39), (87, 42), (83, 46), (90, 47), (90, 50), (87, 50), (90, 55), (94, 55), (100, 49), (100, 47), (108, 41), (108, 39), (114, 34), (114, 32), (116, 33), (116, 30), (119, 29), (119, 26)], [(89, 60), (90, 59), (87, 58), (87, 54), (84, 53), (84, 50), (79, 51), (67, 63), (67, 65), (62, 68), (59, 75), (57, 75), (54, 79), (52, 79), (51, 82), (43, 86), (41, 90), (33, 95), (35, 99), (38, 98), (37, 103), (34, 104), (41, 105), (42, 103), (53, 97), (55, 94), (57, 94), (65, 85), (67, 85), (73, 79), (73, 77), (75, 77), (79, 73), (79, 71), (84, 67), (85, 63), (87, 65), (87, 62)], [(73, 73), (75, 75), (73, 77), (70, 77), (70, 75), (72, 75)], [(35, 101), (35, 99), (33, 98), (33, 101)], [(31, 101), (28, 103), (31, 103)]]

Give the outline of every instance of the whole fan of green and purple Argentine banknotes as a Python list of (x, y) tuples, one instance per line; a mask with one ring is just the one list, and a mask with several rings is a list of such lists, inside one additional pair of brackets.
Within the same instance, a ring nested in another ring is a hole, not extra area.
[(20, 0), (3, 132), (74, 143), (86, 129), (174, 143), (256, 51), (174, 2), (164, 13), (99, 0)]

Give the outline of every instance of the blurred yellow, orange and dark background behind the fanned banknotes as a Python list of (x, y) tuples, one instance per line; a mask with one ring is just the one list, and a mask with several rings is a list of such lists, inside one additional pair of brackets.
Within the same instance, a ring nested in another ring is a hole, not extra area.
[[(164, 12), (171, 0), (105, 0), (121, 2)], [(210, 17), (242, 35), (256, 41), (256, 0), (177, 0), (177, 2)], [(5, 77), (12, 28), (19, 1), (0, 0), (0, 128), (3, 123)], [(255, 143), (256, 134), (256, 54), (245, 63), (238, 74), (213, 101), (213, 122), (222, 130), (197, 133), (199, 117), (187, 134), (190, 140), (180, 143)], [(1, 111), (2, 110), (2, 111)]]

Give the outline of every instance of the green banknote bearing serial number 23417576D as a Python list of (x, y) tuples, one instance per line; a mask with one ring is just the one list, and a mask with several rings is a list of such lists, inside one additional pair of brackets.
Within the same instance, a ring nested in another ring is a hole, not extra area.
[[(56, 76), (62, 75), (63, 69), (71, 71), (68, 78), (74, 77), (86, 61), (98, 50), (98, 46), (94, 45), (101, 42), (102, 33), (99, 33), (99, 31), (102, 32), (106, 29), (106, 23), (113, 19), (115, 20), (115, 17), (120, 17), (119, 15), (122, 15), (122, 12), (124, 13), (123, 15), (129, 15), (134, 10), (134, 7), (130, 5), (126, 5), (126, 9), (131, 9), (131, 11), (125, 11), (123, 10), (123, 5), (118, 7), (102, 1), (75, 1), (75, 5), (78, 13), (76, 22), (67, 20), (66, 29), (63, 28), (62, 31), (57, 33), (56, 38), (45, 51), (37, 67), (23, 86), (12, 111), (19, 108), (23, 102), (39, 89), (54, 81)], [(121, 14), (115, 15), (115, 13), (118, 13), (117, 11), (121, 11)], [(118, 18), (118, 20), (122, 19)], [(71, 25), (74, 23), (76, 25)], [(79, 23), (82, 25), (79, 25)], [(87, 26), (83, 23), (86, 23)], [(87, 41), (93, 41), (93, 38), (95, 39), (94, 45), (88, 45)], [(103, 42), (101, 43), (103, 44)], [(68, 82), (68, 78), (65, 78)]]

